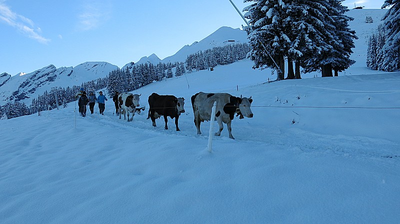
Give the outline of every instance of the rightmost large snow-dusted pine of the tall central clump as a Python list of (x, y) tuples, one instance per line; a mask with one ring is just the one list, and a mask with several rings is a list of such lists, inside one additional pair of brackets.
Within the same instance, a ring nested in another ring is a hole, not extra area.
[(353, 18), (344, 15), (347, 7), (341, 0), (315, 0), (309, 3), (310, 24), (313, 35), (310, 37), (316, 47), (312, 54), (305, 54), (304, 72), (321, 70), (322, 77), (333, 76), (332, 69), (342, 71), (354, 63), (349, 59), (354, 47), (355, 32), (348, 28), (347, 21)]

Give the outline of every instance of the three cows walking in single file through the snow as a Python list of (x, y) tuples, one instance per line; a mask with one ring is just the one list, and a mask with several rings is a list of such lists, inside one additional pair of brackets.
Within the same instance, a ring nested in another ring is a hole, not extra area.
[[(140, 94), (141, 95), (141, 94)], [(132, 121), (135, 113), (140, 113), (144, 110), (144, 107), (139, 107), (139, 97), (138, 94), (132, 93), (120, 93), (118, 95), (118, 105), (119, 105), (119, 119), (121, 119), (121, 114), (123, 114), (123, 119), (127, 121)], [(251, 118), (253, 113), (251, 112), (251, 96), (249, 98), (235, 97), (228, 93), (203, 93), (199, 92), (191, 96), (191, 105), (194, 114), (194, 124), (197, 128), (197, 134), (200, 132), (200, 123), (204, 121), (209, 121), (211, 119), (211, 112), (214, 102), (216, 102), (215, 108), (215, 120), (218, 122), (219, 130), (215, 133), (216, 136), (221, 134), (223, 129), (222, 123), (225, 123), (229, 132), (229, 138), (234, 139), (232, 136), (231, 121), (234, 115), (240, 116), (242, 119), (244, 117)], [(163, 116), (165, 122), (165, 129), (168, 129), (167, 122), (168, 117), (175, 119), (176, 131), (178, 128), (178, 119), (180, 113), (184, 113), (184, 99), (183, 97), (175, 97), (173, 95), (158, 95), (157, 93), (152, 93), (148, 97), (148, 116), (147, 119), (151, 119), (152, 125), (155, 127), (155, 119)], [(129, 115), (131, 117), (129, 118)]]

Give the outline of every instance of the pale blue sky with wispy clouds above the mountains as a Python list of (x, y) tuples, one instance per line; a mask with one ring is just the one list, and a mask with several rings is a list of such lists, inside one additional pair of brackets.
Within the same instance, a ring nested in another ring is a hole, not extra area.
[[(233, 2), (239, 9), (248, 5)], [(356, 6), (382, 3), (361, 0)], [(353, 8), (354, 1), (343, 4)], [(0, 73), (86, 61), (122, 67), (152, 53), (163, 59), (221, 26), (242, 24), (229, 0), (0, 0)]]

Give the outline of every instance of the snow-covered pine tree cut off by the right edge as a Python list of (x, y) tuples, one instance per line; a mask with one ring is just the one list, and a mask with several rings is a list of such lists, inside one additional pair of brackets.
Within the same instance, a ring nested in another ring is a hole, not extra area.
[[(391, 7), (390, 7), (391, 6)], [(400, 70), (400, 0), (385, 0), (382, 8), (390, 7), (384, 15), (386, 41), (382, 48), (380, 69), (383, 71)]]

